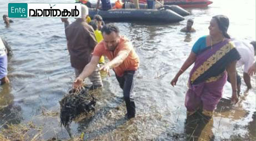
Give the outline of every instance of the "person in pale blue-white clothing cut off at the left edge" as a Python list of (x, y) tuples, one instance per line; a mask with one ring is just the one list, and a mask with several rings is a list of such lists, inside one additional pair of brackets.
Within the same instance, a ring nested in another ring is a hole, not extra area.
[(9, 83), (7, 77), (7, 49), (5, 41), (0, 37), (0, 85)]

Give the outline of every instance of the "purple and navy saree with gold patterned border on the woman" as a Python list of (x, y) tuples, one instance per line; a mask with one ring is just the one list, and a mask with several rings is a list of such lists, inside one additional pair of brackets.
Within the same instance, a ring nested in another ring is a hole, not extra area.
[(206, 47), (196, 56), (185, 98), (188, 114), (202, 106), (203, 114), (211, 116), (222, 97), (223, 86), (227, 81), (226, 67), (239, 59), (240, 55), (230, 40)]

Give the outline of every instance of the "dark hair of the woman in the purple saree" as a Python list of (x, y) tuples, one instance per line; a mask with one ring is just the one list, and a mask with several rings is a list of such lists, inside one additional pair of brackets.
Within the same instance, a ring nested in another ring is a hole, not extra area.
[(216, 15), (213, 16), (213, 18), (216, 19), (218, 27), (222, 31), (223, 36), (230, 39), (230, 36), (227, 33), (229, 26), (228, 17), (224, 15)]

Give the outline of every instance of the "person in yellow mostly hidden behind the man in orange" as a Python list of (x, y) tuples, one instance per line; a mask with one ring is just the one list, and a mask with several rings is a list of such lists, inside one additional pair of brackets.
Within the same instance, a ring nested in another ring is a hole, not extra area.
[[(98, 30), (98, 22), (97, 21), (91, 21), (89, 23), (89, 25), (92, 26), (92, 28), (94, 30), (97, 43), (101, 42), (103, 40), (103, 36), (102, 36), (101, 31)], [(104, 63), (105, 63), (104, 56), (101, 56), (100, 60), (99, 60), (99, 64), (104, 64)]]

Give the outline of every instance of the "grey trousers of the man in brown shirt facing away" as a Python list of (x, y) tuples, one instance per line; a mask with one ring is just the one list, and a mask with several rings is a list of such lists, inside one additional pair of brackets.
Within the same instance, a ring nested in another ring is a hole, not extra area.
[[(83, 69), (77, 69), (75, 68), (75, 77), (78, 77), (79, 74), (81, 74)], [(90, 79), (90, 82), (92, 82), (93, 85), (102, 85), (102, 79), (100, 77), (100, 71), (99, 71), (99, 65), (95, 68), (95, 70), (92, 72), (92, 74), (88, 77)]]

